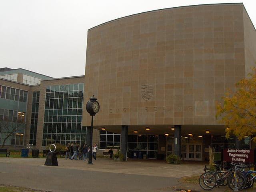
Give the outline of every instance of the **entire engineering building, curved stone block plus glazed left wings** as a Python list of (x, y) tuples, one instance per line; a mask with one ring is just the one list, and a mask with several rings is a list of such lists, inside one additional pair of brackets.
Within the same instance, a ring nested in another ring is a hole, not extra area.
[(217, 158), (222, 147), (252, 148), (249, 137), (226, 140), (215, 114), (216, 102), (228, 88), (235, 90), (255, 61), (256, 31), (242, 3), (167, 8), (106, 22), (88, 30), (85, 76), (0, 69), (0, 118), (26, 122), (6, 145), (41, 150), (87, 142), (91, 117), (85, 107), (94, 95), (100, 111), (93, 143), (100, 151), (203, 161), (210, 144)]

